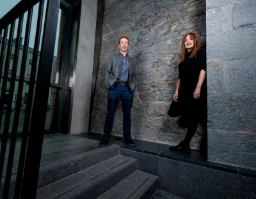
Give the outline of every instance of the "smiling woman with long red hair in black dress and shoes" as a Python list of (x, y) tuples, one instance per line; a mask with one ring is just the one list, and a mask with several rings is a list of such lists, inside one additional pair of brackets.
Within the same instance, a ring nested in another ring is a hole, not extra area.
[(186, 137), (179, 145), (170, 147), (173, 151), (190, 151), (189, 142), (196, 133), (199, 117), (206, 107), (206, 59), (205, 50), (200, 48), (198, 36), (188, 33), (181, 45), (179, 79), (173, 100), (181, 108), (181, 115), (188, 121)]

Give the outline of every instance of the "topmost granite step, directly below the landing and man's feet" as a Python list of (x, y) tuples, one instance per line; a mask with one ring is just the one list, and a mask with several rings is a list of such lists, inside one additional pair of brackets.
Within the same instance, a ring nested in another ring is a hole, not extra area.
[[(88, 149), (88, 147), (86, 149)], [(90, 151), (86, 151), (86, 149), (84, 149), (84, 146), (67, 149), (68, 151), (65, 152), (73, 154), (73, 156), (58, 159), (47, 165), (40, 166), (37, 188), (39, 189), (53, 182), (60, 181), (69, 175), (85, 170), (86, 168), (90, 168), (120, 154), (120, 146), (118, 145), (109, 145), (104, 148), (90, 148)], [(9, 192), (10, 196), (12, 196), (12, 193), (14, 192), (15, 181), (16, 175), (12, 175)], [(2, 179), (1, 182), (0, 193), (2, 193), (3, 186), (4, 179)]]

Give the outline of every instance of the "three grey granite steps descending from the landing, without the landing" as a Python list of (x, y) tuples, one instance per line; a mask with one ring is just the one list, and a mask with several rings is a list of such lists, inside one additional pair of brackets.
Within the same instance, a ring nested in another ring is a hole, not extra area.
[[(120, 156), (119, 150), (109, 145), (42, 168), (36, 199), (151, 198), (157, 177), (136, 170), (137, 160)], [(67, 175), (59, 177), (60, 170)]]

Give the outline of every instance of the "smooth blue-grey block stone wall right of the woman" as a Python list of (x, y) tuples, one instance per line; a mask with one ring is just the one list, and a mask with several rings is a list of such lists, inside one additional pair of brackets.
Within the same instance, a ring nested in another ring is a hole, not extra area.
[(256, 4), (207, 0), (208, 158), (256, 169)]

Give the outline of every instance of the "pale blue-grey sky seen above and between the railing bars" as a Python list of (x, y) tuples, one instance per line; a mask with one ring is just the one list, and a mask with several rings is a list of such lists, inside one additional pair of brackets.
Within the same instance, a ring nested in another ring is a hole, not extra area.
[[(0, 6), (0, 18), (2, 18), (4, 15), (6, 15), (6, 13), (8, 13), (8, 11), (12, 10), (12, 8), (19, 2), (20, 2), (20, 0), (0, 0), (0, 5), (1, 5)], [(45, 1), (45, 6), (44, 6), (43, 24), (45, 21), (46, 4), (47, 4), (47, 1)], [(31, 48), (34, 48), (34, 44), (35, 44), (35, 33), (36, 33), (36, 23), (37, 23), (37, 17), (38, 17), (38, 7), (39, 7), (39, 4), (36, 4), (33, 9), (33, 17), (32, 17), (32, 23), (31, 23), (31, 34), (30, 34), (30, 39), (29, 39), (29, 47), (31, 47)], [(59, 11), (58, 28), (57, 28), (54, 56), (57, 55), (57, 50), (58, 50), (58, 38), (59, 38), (59, 32), (60, 32), (60, 29), (59, 29), (60, 15), (61, 15), (61, 11)], [(28, 12), (25, 13), (24, 20), (23, 20), (22, 44), (24, 44), (27, 18), (28, 18)], [(16, 23), (15, 23), (14, 38), (16, 37), (16, 34), (17, 34), (17, 27), (18, 27), (18, 20), (16, 20)], [(42, 32), (43, 32), (43, 30), (44, 29), (42, 29)], [(10, 31), (10, 28), (9, 28), (9, 31)], [(3, 36), (3, 33), (2, 33), (2, 36)], [(40, 39), (42, 42), (42, 33), (41, 33)], [(41, 42), (40, 42), (40, 48), (41, 48)]]

